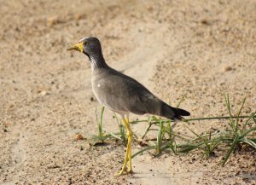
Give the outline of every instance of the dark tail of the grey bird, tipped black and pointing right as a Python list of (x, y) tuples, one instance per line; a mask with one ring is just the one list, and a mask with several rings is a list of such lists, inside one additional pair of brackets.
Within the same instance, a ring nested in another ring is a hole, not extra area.
[(162, 115), (167, 119), (183, 120), (183, 116), (190, 116), (190, 113), (181, 108), (175, 108), (167, 105), (166, 103), (162, 107)]

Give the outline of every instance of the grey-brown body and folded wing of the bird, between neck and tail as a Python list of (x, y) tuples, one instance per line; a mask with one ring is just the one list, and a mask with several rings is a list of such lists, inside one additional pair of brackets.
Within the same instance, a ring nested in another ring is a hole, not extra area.
[(114, 112), (160, 115), (163, 102), (159, 98), (143, 84), (110, 67), (93, 72), (92, 89), (97, 100)]

